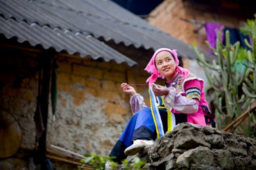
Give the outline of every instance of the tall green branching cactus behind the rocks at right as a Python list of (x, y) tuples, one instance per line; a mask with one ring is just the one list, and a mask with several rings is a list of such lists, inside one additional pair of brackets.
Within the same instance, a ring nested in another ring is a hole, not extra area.
[[(251, 50), (240, 48), (239, 42), (230, 44), (228, 30), (225, 32), (226, 44), (223, 45), (221, 32), (218, 32), (216, 49), (206, 41), (207, 47), (218, 57), (218, 62), (213, 59), (212, 64), (208, 64), (203, 54), (196, 46), (193, 46), (198, 56), (198, 63), (204, 68), (209, 84), (214, 89), (218, 128), (226, 126), (256, 103), (256, 19), (248, 20), (247, 25), (241, 31), (252, 38), (252, 45), (245, 40)], [(239, 61), (238, 64), (238, 58), (241, 58), (239, 55), (243, 55), (245, 60)], [(210, 75), (210, 70), (214, 71), (213, 76)], [(252, 124), (255, 126), (254, 115), (250, 114), (249, 119), (249, 123), (239, 125), (238, 133), (243, 132), (245, 136), (250, 136), (251, 129), (248, 129), (248, 126), (252, 127)]]

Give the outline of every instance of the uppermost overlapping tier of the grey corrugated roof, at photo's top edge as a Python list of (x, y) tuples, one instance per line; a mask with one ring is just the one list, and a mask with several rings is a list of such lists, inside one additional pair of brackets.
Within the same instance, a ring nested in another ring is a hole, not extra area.
[[(39, 3), (52, 4), (85, 15), (93, 15), (104, 19), (120, 21), (123, 24), (152, 29), (164, 33), (162, 30), (149, 25), (146, 20), (137, 17), (110, 0), (33, 0)], [(164, 33), (165, 34), (165, 33)]]

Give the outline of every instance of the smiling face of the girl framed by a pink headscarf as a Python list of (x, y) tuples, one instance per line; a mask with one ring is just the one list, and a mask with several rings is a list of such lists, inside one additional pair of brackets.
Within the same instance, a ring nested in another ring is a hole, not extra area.
[(176, 74), (176, 62), (170, 52), (159, 52), (156, 55), (154, 62), (158, 72), (163, 74), (168, 81), (170, 81)]

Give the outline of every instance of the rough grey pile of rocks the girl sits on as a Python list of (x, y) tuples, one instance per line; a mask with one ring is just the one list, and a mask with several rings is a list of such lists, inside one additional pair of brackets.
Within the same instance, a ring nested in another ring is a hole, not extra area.
[(136, 156), (146, 170), (256, 170), (256, 140), (181, 123)]

